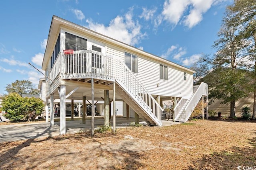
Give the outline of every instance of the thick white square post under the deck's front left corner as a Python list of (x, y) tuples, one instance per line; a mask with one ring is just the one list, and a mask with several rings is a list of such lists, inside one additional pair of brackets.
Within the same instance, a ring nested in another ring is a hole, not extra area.
[(60, 134), (66, 134), (66, 86), (60, 85)]

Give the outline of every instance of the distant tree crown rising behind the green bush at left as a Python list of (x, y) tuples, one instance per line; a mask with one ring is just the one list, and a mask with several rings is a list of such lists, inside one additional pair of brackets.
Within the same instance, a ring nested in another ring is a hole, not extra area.
[(11, 84), (7, 84), (5, 87), (5, 91), (10, 93), (18, 93), (20, 96), (22, 94), (30, 94), (30, 95), (39, 95), (40, 91), (35, 89), (32, 82), (28, 80), (16, 80)]

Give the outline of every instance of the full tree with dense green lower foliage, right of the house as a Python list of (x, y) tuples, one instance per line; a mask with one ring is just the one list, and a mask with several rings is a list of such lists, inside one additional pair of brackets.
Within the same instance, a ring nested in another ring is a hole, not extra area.
[[(249, 81), (244, 77), (248, 73), (241, 70), (245, 65), (244, 51), (249, 44), (236, 34), (237, 28), (227, 21), (227, 18), (222, 21), (219, 39), (214, 42), (213, 47), (217, 49), (214, 57), (201, 58), (196, 71), (209, 73), (203, 78), (208, 83), (209, 98), (211, 101), (222, 99), (223, 103), (230, 103), (230, 117), (235, 117), (236, 100), (246, 97), (250, 90)], [(201, 74), (202, 77), (204, 74)]]

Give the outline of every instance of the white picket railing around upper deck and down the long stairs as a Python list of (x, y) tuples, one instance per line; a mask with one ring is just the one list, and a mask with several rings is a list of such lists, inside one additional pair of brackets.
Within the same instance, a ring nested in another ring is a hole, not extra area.
[(58, 58), (61, 60), (61, 62), (59, 60), (56, 61), (60, 62), (59, 70), (62, 78), (94, 77), (108, 81), (118, 81), (118, 84), (122, 85), (123, 89), (126, 89), (128, 94), (137, 101), (137, 104), (146, 111), (148, 116), (157, 125), (162, 125), (162, 107), (122, 59), (93, 50), (74, 51), (73, 54), (67, 55), (62, 53)]

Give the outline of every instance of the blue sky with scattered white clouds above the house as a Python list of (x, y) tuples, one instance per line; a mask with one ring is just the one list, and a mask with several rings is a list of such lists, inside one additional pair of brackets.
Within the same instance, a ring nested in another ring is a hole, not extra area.
[(0, 10), (0, 94), (15, 80), (38, 86), (52, 16), (190, 67), (213, 54), (232, 0), (5, 0)]

